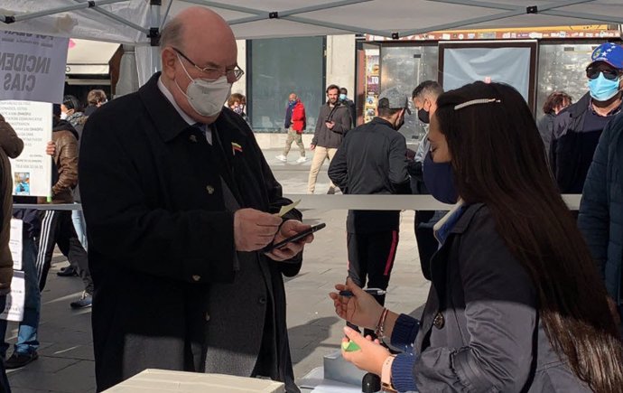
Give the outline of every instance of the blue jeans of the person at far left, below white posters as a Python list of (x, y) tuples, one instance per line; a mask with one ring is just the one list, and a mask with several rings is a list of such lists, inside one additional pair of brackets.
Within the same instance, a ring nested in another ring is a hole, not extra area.
[[(14, 351), (32, 353), (39, 348), (37, 341), (37, 328), (39, 327), (39, 314), (41, 313), (41, 294), (37, 281), (37, 243), (33, 239), (23, 239), (22, 269), (26, 281), (26, 298), (23, 304), (23, 321), (20, 323), (15, 342)], [(0, 320), (0, 337), (5, 337), (6, 321)], [(0, 356), (6, 357), (9, 344), (4, 340), (0, 344)]]

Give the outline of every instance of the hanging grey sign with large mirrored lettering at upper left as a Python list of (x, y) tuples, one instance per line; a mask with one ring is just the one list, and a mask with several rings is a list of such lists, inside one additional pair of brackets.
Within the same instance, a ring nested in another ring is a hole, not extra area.
[(0, 32), (0, 99), (62, 102), (70, 39)]

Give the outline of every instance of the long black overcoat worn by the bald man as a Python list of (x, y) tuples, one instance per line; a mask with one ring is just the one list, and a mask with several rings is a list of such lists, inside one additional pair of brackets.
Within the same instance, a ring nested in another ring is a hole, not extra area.
[[(220, 351), (229, 351), (221, 366), (250, 376), (263, 333), (263, 351), (277, 357), (263, 375), (293, 379), (282, 274), (297, 274), (302, 258), (237, 253), (223, 184), (241, 207), (277, 212), (290, 201), (242, 117), (224, 108), (209, 145), (159, 76), (95, 111), (80, 147), (98, 390), (147, 368), (204, 371)], [(234, 295), (215, 304), (213, 283)], [(214, 325), (219, 335), (207, 337)]]

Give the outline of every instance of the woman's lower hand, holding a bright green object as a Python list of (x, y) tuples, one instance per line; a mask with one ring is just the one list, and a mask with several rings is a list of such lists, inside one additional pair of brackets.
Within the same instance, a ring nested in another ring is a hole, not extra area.
[(370, 339), (366, 339), (348, 326), (344, 327), (344, 333), (349, 338), (342, 339), (342, 342), (353, 341), (359, 346), (360, 350), (347, 352), (342, 349), (342, 357), (353, 363), (358, 369), (375, 373), (380, 377), (383, 370), (383, 362), (388, 356), (391, 356), (391, 353), (389, 353), (386, 347), (379, 344), (377, 340), (373, 342)]

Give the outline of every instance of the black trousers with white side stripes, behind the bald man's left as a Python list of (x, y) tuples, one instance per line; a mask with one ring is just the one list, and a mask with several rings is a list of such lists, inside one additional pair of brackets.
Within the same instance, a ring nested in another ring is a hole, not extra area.
[(71, 211), (42, 211), (42, 232), (39, 239), (39, 252), (36, 259), (39, 289), (43, 291), (50, 270), (54, 246), (70, 261), (82, 281), (85, 291), (93, 294), (93, 280), (88, 270), (87, 251), (82, 247), (71, 220)]

